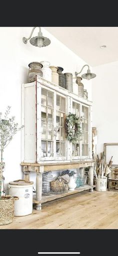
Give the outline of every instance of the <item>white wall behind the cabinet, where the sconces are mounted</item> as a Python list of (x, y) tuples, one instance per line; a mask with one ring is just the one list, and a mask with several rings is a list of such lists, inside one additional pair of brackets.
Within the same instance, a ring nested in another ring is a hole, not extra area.
[[(82, 65), (86, 64), (43, 28), (43, 36), (51, 40), (48, 47), (34, 47), (29, 41), (26, 45), (23, 44), (22, 37), (29, 37), (31, 30), (32, 28), (29, 27), (0, 27), (0, 112), (10, 105), (11, 114), (15, 115), (19, 124), (21, 83), (27, 82), (30, 62), (47, 60), (51, 65), (63, 67), (63, 72), (71, 72), (73, 75), (75, 71), (79, 72)], [(36, 36), (37, 32), (38, 28), (35, 29), (33, 36)], [(88, 90), (88, 99), (91, 100), (91, 81), (82, 80), (82, 82), (84, 88)], [(18, 132), (3, 154), (6, 183), (22, 178), (20, 139), (20, 132)]]

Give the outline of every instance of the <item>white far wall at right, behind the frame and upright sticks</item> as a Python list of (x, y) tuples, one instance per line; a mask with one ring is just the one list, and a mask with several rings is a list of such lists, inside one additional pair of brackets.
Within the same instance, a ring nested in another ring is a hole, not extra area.
[(118, 143), (118, 61), (94, 67), (92, 126), (98, 130), (98, 154), (103, 143)]

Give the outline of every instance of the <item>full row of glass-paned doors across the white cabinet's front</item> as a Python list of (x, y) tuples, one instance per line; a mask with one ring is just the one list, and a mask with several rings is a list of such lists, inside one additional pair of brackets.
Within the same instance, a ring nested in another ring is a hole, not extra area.
[[(40, 99), (41, 94), (41, 99)], [(89, 157), (89, 106), (54, 89), (40, 85), (37, 103), (37, 156), (39, 161), (88, 159)], [(66, 109), (67, 101), (67, 109)], [(69, 143), (65, 138), (64, 121), (67, 112), (82, 117), (82, 136)], [(41, 138), (41, 139), (40, 139)], [(81, 140), (82, 139), (82, 140)]]

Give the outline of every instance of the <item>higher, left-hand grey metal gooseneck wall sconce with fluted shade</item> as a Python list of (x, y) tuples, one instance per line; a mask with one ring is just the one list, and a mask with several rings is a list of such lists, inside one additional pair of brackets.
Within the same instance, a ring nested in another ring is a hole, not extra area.
[(37, 46), (37, 47), (44, 47), (50, 44), (50, 40), (47, 37), (42, 36), (41, 28), (39, 27), (39, 32), (37, 37), (32, 37), (33, 31), (36, 27), (34, 27), (30, 33), (30, 36), (28, 38), (23, 37), (22, 41), (24, 44), (27, 44), (27, 41), (29, 40), (31, 45)]

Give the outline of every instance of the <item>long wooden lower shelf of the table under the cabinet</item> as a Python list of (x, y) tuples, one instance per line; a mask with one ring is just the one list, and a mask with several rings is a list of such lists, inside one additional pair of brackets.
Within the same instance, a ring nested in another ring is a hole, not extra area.
[(82, 192), (82, 191), (85, 191), (85, 190), (88, 190), (88, 189), (91, 189), (91, 188), (94, 188), (94, 187), (95, 187), (95, 185), (93, 185), (93, 186), (84, 185), (84, 187), (75, 188), (73, 191), (68, 190), (67, 193), (62, 193), (62, 194), (57, 194), (57, 195), (56, 194), (50, 194), (49, 196), (42, 196), (41, 201), (37, 201), (35, 199), (35, 196), (34, 196), (33, 197), (33, 203), (41, 204), (41, 203), (49, 202), (49, 201), (55, 200), (57, 198), (61, 198), (61, 197), (64, 197), (64, 196), (69, 196), (69, 195), (79, 193), (79, 192)]

